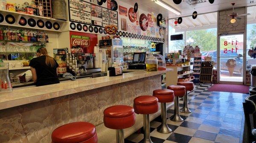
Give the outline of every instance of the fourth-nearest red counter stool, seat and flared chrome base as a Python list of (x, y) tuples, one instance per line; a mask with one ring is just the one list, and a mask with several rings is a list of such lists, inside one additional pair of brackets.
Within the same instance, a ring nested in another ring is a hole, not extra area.
[(157, 132), (168, 134), (172, 132), (172, 129), (170, 129), (166, 123), (166, 119), (167, 119), (166, 103), (173, 102), (174, 92), (172, 90), (154, 90), (153, 96), (157, 97), (158, 102), (161, 103), (162, 124), (160, 128), (157, 129)]

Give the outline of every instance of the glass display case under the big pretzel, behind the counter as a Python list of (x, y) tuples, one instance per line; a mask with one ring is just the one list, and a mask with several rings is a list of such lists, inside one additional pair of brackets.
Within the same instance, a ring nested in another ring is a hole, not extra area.
[(123, 67), (123, 41), (122, 39), (106, 39), (99, 40), (99, 47), (104, 51), (104, 55), (108, 55), (108, 67), (121, 66)]

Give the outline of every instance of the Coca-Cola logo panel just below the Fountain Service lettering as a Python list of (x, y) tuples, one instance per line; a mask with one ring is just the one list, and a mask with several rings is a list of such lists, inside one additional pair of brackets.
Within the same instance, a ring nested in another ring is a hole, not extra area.
[(90, 46), (90, 37), (71, 35), (72, 46), (80, 46), (81, 48)]

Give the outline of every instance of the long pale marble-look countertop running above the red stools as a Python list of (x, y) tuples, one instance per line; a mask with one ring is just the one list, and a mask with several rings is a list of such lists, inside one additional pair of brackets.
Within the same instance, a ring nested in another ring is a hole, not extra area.
[(156, 72), (134, 71), (131, 73), (124, 73), (122, 76), (103, 76), (94, 79), (79, 79), (76, 81), (67, 81), (41, 87), (24, 87), (22, 89), (14, 89), (9, 93), (0, 93), (0, 110), (64, 95), (70, 95), (73, 93), (79, 93), (82, 91), (93, 90), (131, 80), (155, 76), (168, 71), (168, 69)]

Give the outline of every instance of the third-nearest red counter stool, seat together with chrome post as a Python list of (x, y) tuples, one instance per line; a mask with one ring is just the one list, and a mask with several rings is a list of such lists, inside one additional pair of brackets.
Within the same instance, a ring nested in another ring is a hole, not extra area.
[(158, 111), (158, 99), (154, 96), (144, 95), (134, 99), (134, 110), (137, 114), (143, 114), (144, 140), (142, 143), (153, 143), (150, 139), (149, 114)]

